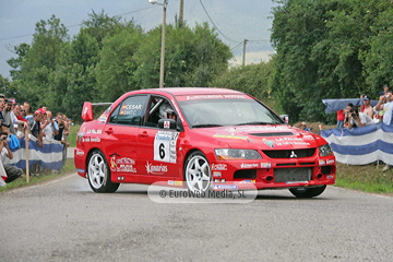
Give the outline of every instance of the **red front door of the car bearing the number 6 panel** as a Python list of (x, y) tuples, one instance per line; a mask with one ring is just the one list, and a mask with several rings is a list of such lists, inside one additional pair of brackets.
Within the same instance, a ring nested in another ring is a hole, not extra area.
[(145, 121), (139, 130), (138, 155), (144, 163), (144, 175), (174, 178), (179, 172), (177, 159), (179, 132), (158, 129), (158, 120), (164, 117), (159, 112), (159, 107), (163, 105), (170, 103), (164, 97), (151, 97)]

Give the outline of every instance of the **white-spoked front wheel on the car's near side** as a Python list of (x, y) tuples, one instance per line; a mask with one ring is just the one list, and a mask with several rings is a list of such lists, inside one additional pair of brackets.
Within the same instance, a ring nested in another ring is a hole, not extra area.
[(193, 152), (184, 165), (184, 180), (188, 190), (205, 192), (212, 188), (212, 170), (210, 164), (200, 151)]

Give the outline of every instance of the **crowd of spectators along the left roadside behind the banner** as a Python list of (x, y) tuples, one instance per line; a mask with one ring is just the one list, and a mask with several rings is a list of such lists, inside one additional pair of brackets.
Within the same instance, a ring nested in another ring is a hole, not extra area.
[[(36, 141), (41, 147), (45, 142), (52, 140), (63, 144), (64, 151), (70, 145), (67, 141), (70, 132), (70, 122), (66, 115), (58, 112), (56, 117), (43, 105), (35, 111), (29, 103), (19, 104), (13, 98), (5, 98), (0, 94), (0, 187), (15, 180), (23, 175), (23, 169), (12, 165), (4, 165), (5, 157), (14, 156), (10, 148), (20, 146), (20, 139), (26, 135)], [(63, 154), (67, 157), (67, 154)], [(31, 168), (31, 176), (39, 176), (41, 171), (38, 165)]]

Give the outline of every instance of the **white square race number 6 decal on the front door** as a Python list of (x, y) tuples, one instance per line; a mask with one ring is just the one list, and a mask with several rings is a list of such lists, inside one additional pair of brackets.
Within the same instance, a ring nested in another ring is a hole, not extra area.
[(179, 132), (158, 131), (154, 138), (154, 160), (176, 163), (178, 138)]

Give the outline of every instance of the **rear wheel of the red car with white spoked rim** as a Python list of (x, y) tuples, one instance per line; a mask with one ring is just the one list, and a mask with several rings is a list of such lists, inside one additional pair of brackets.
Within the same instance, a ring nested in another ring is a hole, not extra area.
[(120, 186), (110, 181), (110, 170), (103, 152), (96, 150), (88, 156), (87, 179), (96, 193), (114, 193)]

